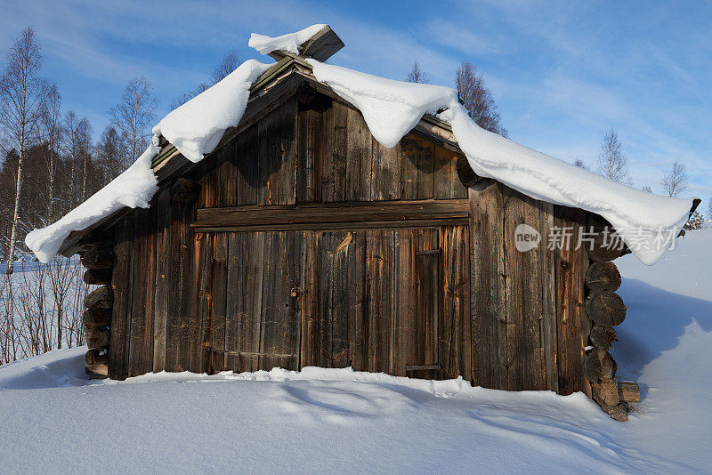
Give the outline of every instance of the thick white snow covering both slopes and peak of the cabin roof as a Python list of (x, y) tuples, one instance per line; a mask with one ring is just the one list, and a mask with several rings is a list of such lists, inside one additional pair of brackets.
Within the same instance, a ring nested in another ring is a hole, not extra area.
[[(300, 44), (324, 27), (312, 25), (276, 38), (253, 34), (249, 44), (263, 54), (275, 50), (297, 53)], [(307, 61), (317, 80), (360, 110), (370, 132), (384, 147), (395, 146), (426, 113), (440, 112), (438, 117), (452, 126), (475, 173), (535, 199), (600, 214), (643, 263), (657, 262), (688, 219), (692, 198), (660, 197), (634, 189), (481, 129), (448, 87), (404, 83)], [(239, 124), (250, 85), (271, 66), (247, 60), (223, 81), (168, 114), (153, 129), (154, 144), (134, 165), (61, 220), (30, 232), (25, 240), (28, 247), (48, 262), (71, 231), (86, 229), (123, 206), (147, 207), (158, 188), (150, 169), (150, 158), (158, 152), (158, 137), (165, 137), (190, 161), (202, 160), (225, 130)], [(665, 232), (661, 234), (661, 230)]]

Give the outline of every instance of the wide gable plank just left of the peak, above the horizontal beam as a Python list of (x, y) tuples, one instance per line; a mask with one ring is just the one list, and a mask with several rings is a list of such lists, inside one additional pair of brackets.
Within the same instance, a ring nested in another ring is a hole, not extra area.
[(296, 97), (257, 125), (259, 139), (257, 203), (292, 205), (296, 202)]

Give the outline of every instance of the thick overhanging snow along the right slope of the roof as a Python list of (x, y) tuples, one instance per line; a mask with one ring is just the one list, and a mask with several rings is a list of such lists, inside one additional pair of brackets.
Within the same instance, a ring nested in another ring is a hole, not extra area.
[(688, 220), (692, 198), (660, 197), (635, 189), (483, 130), (450, 88), (307, 61), (317, 80), (360, 109), (370, 132), (384, 147), (395, 146), (425, 113), (444, 109), (438, 117), (452, 127), (475, 173), (534, 199), (603, 216), (647, 265), (658, 262)]

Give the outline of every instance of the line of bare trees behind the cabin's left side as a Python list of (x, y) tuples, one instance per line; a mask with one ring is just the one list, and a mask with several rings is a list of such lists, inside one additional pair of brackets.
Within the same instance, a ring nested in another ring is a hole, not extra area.
[[(62, 104), (56, 84), (42, 76), (42, 47), (32, 27), (8, 48), (0, 76), (0, 256), (12, 273), (28, 254), (27, 233), (61, 218), (122, 173), (149, 144), (158, 98), (145, 77), (134, 77), (98, 141), (93, 126)], [(202, 83), (171, 102), (189, 101), (239, 66), (231, 50)]]

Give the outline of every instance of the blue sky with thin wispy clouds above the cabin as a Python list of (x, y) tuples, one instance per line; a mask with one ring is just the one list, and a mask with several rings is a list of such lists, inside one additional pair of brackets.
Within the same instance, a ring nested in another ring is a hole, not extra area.
[(662, 192), (679, 158), (687, 194), (712, 195), (710, 2), (0, 1), (0, 11), (0, 49), (33, 25), (44, 76), (97, 136), (134, 76), (154, 85), (158, 122), (230, 48), (271, 61), (247, 48), (251, 32), (328, 23), (346, 44), (335, 64), (403, 79), (417, 59), (451, 86), (459, 61), (472, 60), (514, 141), (595, 168), (613, 127), (635, 186)]

